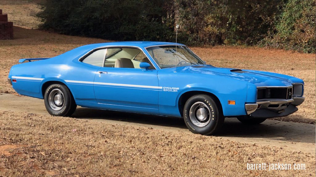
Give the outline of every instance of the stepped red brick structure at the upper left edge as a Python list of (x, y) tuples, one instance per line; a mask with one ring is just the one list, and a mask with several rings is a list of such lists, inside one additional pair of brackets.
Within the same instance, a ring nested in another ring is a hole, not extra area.
[(8, 15), (0, 9), (0, 40), (13, 39), (13, 22), (8, 22)]

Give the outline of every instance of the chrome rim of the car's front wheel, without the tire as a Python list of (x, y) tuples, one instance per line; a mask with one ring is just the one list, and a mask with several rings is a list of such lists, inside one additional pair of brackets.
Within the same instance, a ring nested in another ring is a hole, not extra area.
[(210, 123), (210, 109), (203, 102), (196, 102), (190, 108), (190, 120), (197, 127), (205, 127)]

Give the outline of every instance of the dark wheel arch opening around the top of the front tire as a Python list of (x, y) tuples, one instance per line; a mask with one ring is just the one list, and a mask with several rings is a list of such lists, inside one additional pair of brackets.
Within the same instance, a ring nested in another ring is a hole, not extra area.
[(179, 109), (179, 112), (180, 112), (180, 115), (183, 116), (183, 107), (185, 105), (185, 102), (191, 98), (192, 96), (194, 95), (198, 95), (198, 94), (206, 94), (206, 95), (209, 95), (210, 97), (214, 98), (214, 101), (216, 103), (216, 106), (218, 106), (218, 111), (221, 112), (221, 114), (223, 115), (223, 108), (222, 108), (222, 103), (221, 101), (218, 99), (218, 97), (209, 92), (209, 91), (202, 91), (202, 90), (190, 90), (190, 91), (186, 91), (184, 93), (182, 93), (180, 96), (179, 96), (179, 99), (178, 99), (178, 109)]

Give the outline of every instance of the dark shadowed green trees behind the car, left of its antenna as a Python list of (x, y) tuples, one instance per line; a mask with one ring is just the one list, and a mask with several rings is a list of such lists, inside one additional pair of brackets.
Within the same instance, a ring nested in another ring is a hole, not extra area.
[(166, 0), (47, 0), (37, 14), (40, 29), (112, 40), (168, 40)]

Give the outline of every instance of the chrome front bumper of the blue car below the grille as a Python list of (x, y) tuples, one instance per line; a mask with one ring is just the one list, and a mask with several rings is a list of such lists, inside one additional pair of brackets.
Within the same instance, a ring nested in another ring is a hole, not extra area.
[(262, 100), (254, 104), (245, 104), (247, 115), (250, 115), (258, 109), (265, 109), (282, 113), (289, 107), (289, 105), (298, 106), (305, 100), (305, 97), (293, 97), (290, 100)]

